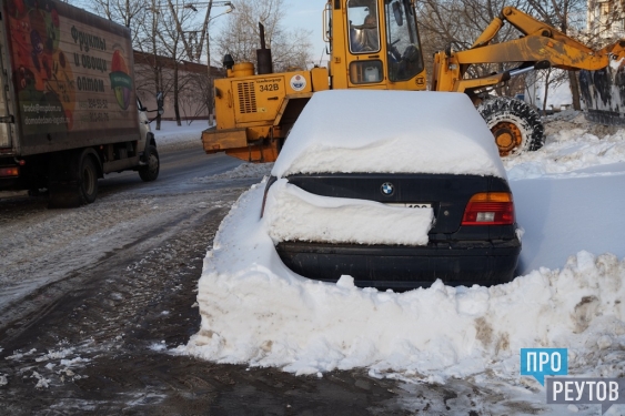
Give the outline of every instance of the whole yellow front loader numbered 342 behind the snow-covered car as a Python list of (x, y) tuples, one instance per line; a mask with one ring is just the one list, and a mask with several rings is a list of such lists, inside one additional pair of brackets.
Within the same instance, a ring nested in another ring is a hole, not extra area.
[[(216, 128), (202, 133), (206, 153), (225, 152), (251, 162), (278, 158), (291, 126), (316, 91), (329, 89), (426, 89), (414, 0), (329, 0), (323, 11), (327, 68), (274, 73), (271, 51), (261, 49), (258, 69), (224, 58), (228, 77), (215, 80)], [(518, 39), (492, 43), (505, 22)], [(512, 7), (503, 9), (471, 49), (435, 54), (431, 89), (465, 92), (478, 106), (502, 155), (543, 145), (543, 125), (523, 101), (488, 98), (488, 90), (521, 73), (544, 68), (598, 70), (625, 55), (617, 42), (593, 51)], [(470, 78), (472, 64), (516, 63), (513, 70)], [(451, 109), (453, 111), (453, 109)], [(340, 114), (337, 114), (340, 116)]]

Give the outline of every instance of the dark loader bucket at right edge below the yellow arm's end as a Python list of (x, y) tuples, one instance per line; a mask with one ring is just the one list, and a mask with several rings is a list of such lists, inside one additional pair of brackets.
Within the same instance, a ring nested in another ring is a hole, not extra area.
[(586, 119), (625, 125), (625, 59), (597, 71), (579, 71), (578, 77)]

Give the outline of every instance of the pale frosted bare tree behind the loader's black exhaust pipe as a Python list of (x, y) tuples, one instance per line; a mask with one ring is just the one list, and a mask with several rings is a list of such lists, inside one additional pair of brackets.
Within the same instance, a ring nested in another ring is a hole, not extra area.
[(261, 22), (265, 30), (266, 47), (272, 50), (275, 71), (309, 67), (309, 62), (312, 62), (311, 32), (286, 30), (282, 26), (285, 14), (283, 0), (238, 0), (232, 3), (235, 9), (216, 37), (219, 57), (230, 53), (235, 62), (256, 63)]

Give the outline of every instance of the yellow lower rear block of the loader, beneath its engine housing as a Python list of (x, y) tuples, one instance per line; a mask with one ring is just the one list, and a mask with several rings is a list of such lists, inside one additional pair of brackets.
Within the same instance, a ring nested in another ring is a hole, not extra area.
[(202, 132), (202, 145), (208, 154), (225, 154), (245, 162), (265, 163), (278, 159), (280, 139), (248, 139), (248, 129), (215, 130)]

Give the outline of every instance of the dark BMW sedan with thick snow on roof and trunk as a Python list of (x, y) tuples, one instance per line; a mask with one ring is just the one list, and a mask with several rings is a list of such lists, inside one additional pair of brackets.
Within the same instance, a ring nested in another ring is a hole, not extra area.
[(271, 173), (261, 215), (302, 276), (395, 288), (514, 276), (512, 193), (465, 94), (317, 92)]

